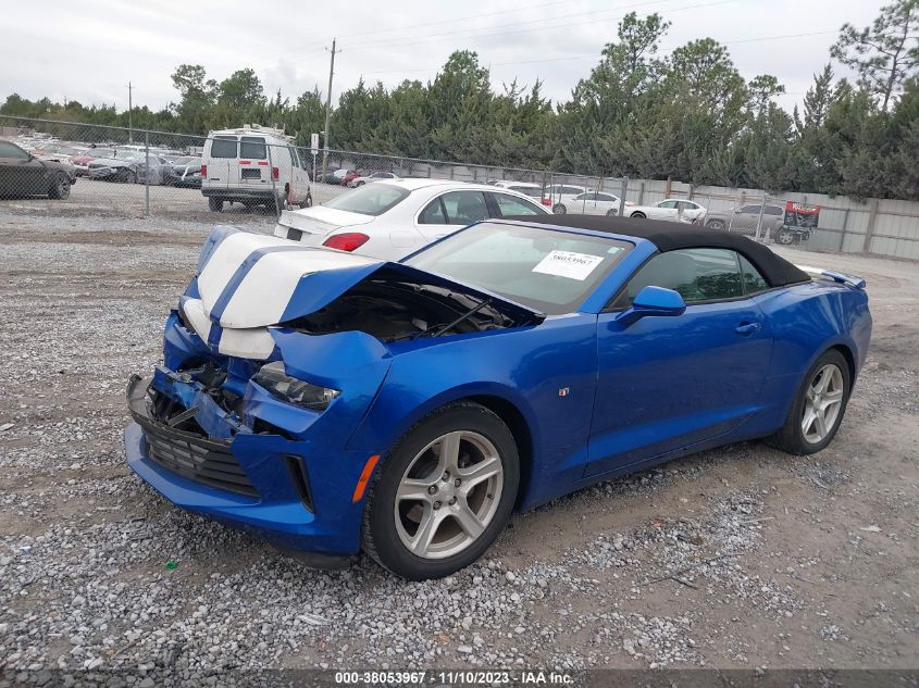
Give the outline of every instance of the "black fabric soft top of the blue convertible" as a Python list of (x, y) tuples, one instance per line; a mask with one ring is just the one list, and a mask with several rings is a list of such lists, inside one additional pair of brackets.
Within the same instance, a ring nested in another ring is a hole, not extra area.
[(647, 239), (661, 253), (676, 249), (731, 249), (742, 253), (759, 268), (770, 287), (782, 287), (809, 282), (810, 276), (769, 248), (738, 234), (705, 229), (695, 225), (637, 217), (611, 217), (606, 215), (512, 215), (512, 220), (530, 225), (572, 227), (592, 232), (608, 232), (629, 237)]

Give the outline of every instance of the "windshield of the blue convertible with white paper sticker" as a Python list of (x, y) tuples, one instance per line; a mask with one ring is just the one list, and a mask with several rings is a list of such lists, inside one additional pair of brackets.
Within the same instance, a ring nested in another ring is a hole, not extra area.
[(631, 248), (612, 238), (483, 222), (405, 262), (561, 315), (575, 311)]

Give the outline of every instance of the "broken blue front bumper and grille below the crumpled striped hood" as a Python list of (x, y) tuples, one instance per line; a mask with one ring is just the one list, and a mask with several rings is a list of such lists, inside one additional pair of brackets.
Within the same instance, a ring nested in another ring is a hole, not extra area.
[[(286, 351), (291, 368), (301, 356), (326, 358), (326, 347), (348, 350), (335, 336), (330, 342), (289, 332), (275, 338), (276, 355)], [(134, 376), (128, 385), (128, 466), (182, 509), (268, 540), (309, 565), (347, 564), (360, 547), (363, 504), (351, 497), (369, 453), (347, 448), (350, 431), (343, 424), (353, 430), (360, 422), (388, 360), (356, 365), (341, 380), (351, 395), (318, 413), (249, 380), (262, 361), (216, 354), (176, 312), (166, 322), (164, 359), (151, 378)], [(202, 361), (226, 372), (221, 387), (238, 395), (235, 405), (197, 372)]]

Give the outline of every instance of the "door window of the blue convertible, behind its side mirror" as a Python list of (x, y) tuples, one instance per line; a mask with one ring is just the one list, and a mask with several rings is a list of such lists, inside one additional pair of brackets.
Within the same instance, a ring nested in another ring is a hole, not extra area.
[(654, 257), (626, 287), (628, 302), (653, 285), (678, 291), (686, 303), (744, 296), (737, 253), (728, 249), (682, 249)]

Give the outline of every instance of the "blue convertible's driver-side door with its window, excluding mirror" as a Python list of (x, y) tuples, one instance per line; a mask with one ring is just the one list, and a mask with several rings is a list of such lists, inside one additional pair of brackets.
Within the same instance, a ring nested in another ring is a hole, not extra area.
[[(619, 313), (648, 285), (679, 291), (686, 311), (623, 327)], [(670, 251), (638, 270), (597, 321), (588, 475), (723, 435), (760, 408), (772, 337), (752, 291), (725, 249)]]

